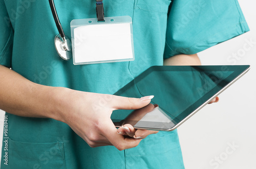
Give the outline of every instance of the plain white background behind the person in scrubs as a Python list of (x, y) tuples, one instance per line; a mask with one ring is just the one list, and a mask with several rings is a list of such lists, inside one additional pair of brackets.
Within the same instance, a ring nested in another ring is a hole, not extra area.
[[(218, 103), (205, 106), (178, 128), (186, 169), (256, 168), (256, 44), (244, 49), (245, 40), (256, 43), (256, 2), (239, 3), (251, 31), (200, 52), (199, 57), (203, 65), (248, 64), (251, 69), (220, 95)], [(228, 60), (239, 52), (239, 59)], [(2, 110), (0, 115), (3, 132)]]

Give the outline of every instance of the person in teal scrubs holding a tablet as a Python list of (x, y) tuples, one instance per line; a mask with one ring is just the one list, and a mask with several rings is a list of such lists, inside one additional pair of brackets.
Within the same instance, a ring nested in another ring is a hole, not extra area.
[[(71, 20), (96, 17), (94, 1), (55, 6), (69, 38)], [(117, 130), (110, 119), (152, 97), (112, 94), (151, 66), (199, 65), (195, 53), (249, 31), (238, 2), (106, 0), (104, 13), (133, 18), (135, 61), (75, 66), (55, 50), (47, 1), (0, 0), (1, 168), (184, 168), (177, 130)]]

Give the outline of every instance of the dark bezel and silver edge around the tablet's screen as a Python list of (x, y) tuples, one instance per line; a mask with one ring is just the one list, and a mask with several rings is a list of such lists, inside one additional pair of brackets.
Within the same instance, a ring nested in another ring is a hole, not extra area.
[[(204, 107), (206, 104), (208, 104), (212, 99), (214, 99), (215, 97), (217, 97), (219, 94), (221, 94), (224, 90), (226, 90), (229, 86), (231, 86), (235, 81), (237, 81), (240, 77), (242, 77), (246, 72), (248, 72), (250, 69), (249, 65), (221, 65), (221, 66), (152, 66), (150, 68), (148, 68), (147, 70), (145, 70), (143, 73), (141, 73), (138, 77), (136, 77), (134, 80), (132, 80), (130, 83), (128, 83), (126, 86), (124, 86), (122, 89), (120, 89), (118, 92), (116, 92), (114, 95), (122, 95), (123, 92), (125, 92), (127, 89), (129, 89), (131, 86), (136, 85), (136, 82), (139, 82), (140, 80), (142, 80), (145, 76), (147, 76), (149, 73), (153, 72), (153, 71), (195, 71), (195, 70), (204, 70), (204, 72), (216, 72), (216, 71), (233, 71), (228, 77), (226, 77), (225, 79), (222, 79), (220, 81), (221, 85), (217, 85), (216, 87), (214, 87), (212, 90), (218, 91), (216, 92), (216, 94), (214, 94), (212, 97), (210, 97), (209, 99), (207, 99), (206, 101), (202, 101), (205, 100), (204, 98), (207, 97), (205, 95), (212, 95), (210, 93), (210, 91), (208, 91), (203, 97), (201, 97), (199, 100), (197, 100), (196, 102), (194, 102), (192, 105), (190, 105), (188, 108), (186, 108), (184, 111), (181, 112), (181, 114), (178, 116), (184, 116), (184, 114), (186, 113), (185, 118), (183, 118), (183, 120), (178, 121), (177, 119), (173, 119), (173, 123), (175, 124), (174, 127), (169, 128), (169, 129), (160, 129), (160, 128), (154, 128), (154, 127), (134, 127), (136, 129), (148, 129), (148, 130), (161, 130), (161, 131), (172, 131), (175, 130), (177, 127), (179, 127), (182, 123), (184, 123), (187, 119), (189, 119), (190, 117), (192, 117), (193, 115), (196, 114), (196, 112), (198, 112), (202, 107)], [(228, 81), (227, 81), (228, 79)], [(221, 87), (220, 87), (221, 86)], [(209, 96), (208, 96), (209, 97)], [(201, 101), (200, 104), (198, 104)], [(152, 101), (153, 102), (153, 101)], [(154, 103), (154, 102), (153, 102)], [(194, 111), (191, 111), (188, 115), (187, 112), (188, 109), (191, 106), (195, 106), (198, 107), (196, 108)], [(165, 111), (164, 109), (162, 109), (163, 111)], [(117, 120), (117, 119), (115, 119)], [(123, 120), (123, 119), (122, 119)], [(120, 119), (120, 121), (122, 121)], [(117, 120), (118, 121), (118, 120)], [(155, 123), (155, 122), (147, 122), (147, 123)], [(114, 123), (116, 127), (121, 127), (120, 124), (118, 123)]]

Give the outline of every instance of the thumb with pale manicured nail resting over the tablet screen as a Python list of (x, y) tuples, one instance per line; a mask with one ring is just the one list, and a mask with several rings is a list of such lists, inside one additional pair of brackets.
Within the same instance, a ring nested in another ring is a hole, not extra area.
[(116, 96), (112, 99), (111, 105), (113, 110), (116, 109), (139, 109), (146, 106), (151, 102), (151, 99), (154, 96), (145, 96), (141, 98), (132, 98), (132, 97), (121, 97)]

